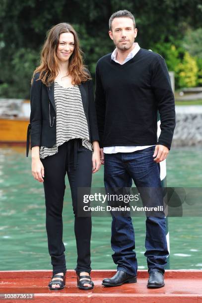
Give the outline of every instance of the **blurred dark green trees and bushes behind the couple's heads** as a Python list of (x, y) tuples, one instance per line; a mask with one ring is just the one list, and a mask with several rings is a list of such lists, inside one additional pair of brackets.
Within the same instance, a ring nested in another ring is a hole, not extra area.
[[(108, 21), (120, 9), (128, 9), (135, 15), (136, 41), (140, 47), (156, 49), (177, 75), (179, 60), (184, 57), (179, 47), (188, 28), (196, 30), (197, 49), (201, 33), (197, 30), (202, 28), (201, 0), (1, 0), (0, 97), (29, 97), (31, 76), (38, 65), (46, 33), (60, 22), (69, 22), (77, 30), (85, 63), (94, 76), (97, 60), (114, 50)], [(193, 50), (188, 51), (192, 54)], [(201, 61), (196, 60), (200, 65)], [(178, 78), (177, 75), (177, 83)], [(195, 81), (197, 85), (202, 85), (200, 79), (202, 75)], [(182, 85), (182, 81), (179, 83)]]

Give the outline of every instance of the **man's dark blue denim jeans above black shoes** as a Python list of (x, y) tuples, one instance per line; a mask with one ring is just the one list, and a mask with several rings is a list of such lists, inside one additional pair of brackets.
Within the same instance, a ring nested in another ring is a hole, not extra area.
[[(154, 149), (155, 147), (150, 147), (136, 152), (105, 153), (105, 189), (130, 188), (133, 180), (137, 188), (161, 188), (160, 165), (153, 160)], [(163, 195), (158, 200), (163, 205)], [(136, 275), (135, 234), (130, 215), (112, 215), (111, 246), (117, 270)], [(159, 270), (164, 273), (169, 254), (164, 216), (146, 217), (145, 248), (148, 272)]]

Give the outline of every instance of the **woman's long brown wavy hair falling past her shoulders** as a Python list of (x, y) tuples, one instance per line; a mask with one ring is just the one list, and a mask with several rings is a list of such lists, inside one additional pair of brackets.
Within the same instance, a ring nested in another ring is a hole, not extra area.
[[(59, 71), (58, 57), (56, 51), (59, 45), (60, 35), (62, 33), (71, 33), (74, 36), (74, 50), (69, 58), (68, 74), (72, 77), (72, 84), (79, 85), (81, 82), (85, 82), (91, 79), (87, 69), (83, 64), (82, 50), (79, 48), (79, 40), (76, 31), (68, 23), (59, 23), (53, 26), (46, 36), (45, 43), (41, 50), (41, 62), (35, 69), (33, 78), (36, 73), (39, 74), (39, 79), (49, 86)], [(33, 78), (31, 84), (33, 83)]]

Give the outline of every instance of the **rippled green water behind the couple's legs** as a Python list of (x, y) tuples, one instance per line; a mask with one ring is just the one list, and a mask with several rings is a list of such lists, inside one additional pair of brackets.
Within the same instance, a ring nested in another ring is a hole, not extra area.
[[(73, 212), (66, 180), (64, 244), (67, 269), (76, 264)], [(93, 187), (103, 186), (103, 167), (93, 175)], [(202, 151), (172, 149), (167, 160), (167, 186), (202, 187)], [(43, 184), (33, 179), (31, 157), (24, 148), (0, 148), (0, 270), (52, 269), (47, 248)], [(92, 269), (116, 269), (112, 261), (110, 217), (93, 217)], [(143, 253), (145, 219), (133, 218), (139, 269), (146, 269)], [(202, 269), (202, 218), (170, 217), (170, 268)]]

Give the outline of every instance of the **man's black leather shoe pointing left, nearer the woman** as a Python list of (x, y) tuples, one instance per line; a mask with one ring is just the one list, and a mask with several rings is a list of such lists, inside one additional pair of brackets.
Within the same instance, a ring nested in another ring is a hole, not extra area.
[(127, 272), (118, 270), (112, 278), (107, 278), (102, 281), (104, 286), (120, 286), (124, 283), (136, 283), (137, 277), (127, 274)]

